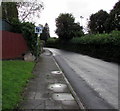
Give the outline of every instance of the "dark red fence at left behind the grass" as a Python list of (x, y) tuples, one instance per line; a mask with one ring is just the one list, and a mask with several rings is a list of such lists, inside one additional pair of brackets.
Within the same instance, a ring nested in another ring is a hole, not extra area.
[(22, 34), (8, 31), (0, 31), (0, 33), (2, 33), (2, 59), (21, 58), (28, 50)]

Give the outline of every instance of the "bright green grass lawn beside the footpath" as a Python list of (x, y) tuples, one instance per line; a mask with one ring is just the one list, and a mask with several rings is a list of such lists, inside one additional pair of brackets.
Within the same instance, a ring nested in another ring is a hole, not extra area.
[(2, 62), (2, 109), (14, 109), (22, 99), (22, 92), (28, 80), (33, 77), (34, 62)]

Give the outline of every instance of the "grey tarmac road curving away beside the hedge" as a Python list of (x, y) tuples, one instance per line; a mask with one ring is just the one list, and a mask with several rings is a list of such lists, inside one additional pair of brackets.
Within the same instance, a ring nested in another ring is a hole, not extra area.
[(88, 109), (118, 109), (118, 64), (49, 49)]

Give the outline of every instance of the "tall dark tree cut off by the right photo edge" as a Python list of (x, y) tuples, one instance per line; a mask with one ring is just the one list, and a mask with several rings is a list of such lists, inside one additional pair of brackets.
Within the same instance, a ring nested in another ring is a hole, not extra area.
[(111, 10), (109, 17), (105, 23), (107, 32), (120, 30), (120, 1), (118, 1)]

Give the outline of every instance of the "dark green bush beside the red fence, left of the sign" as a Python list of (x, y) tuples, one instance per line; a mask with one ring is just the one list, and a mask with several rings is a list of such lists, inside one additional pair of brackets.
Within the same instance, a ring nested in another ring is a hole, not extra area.
[(34, 32), (35, 25), (29, 22), (20, 23), (18, 20), (14, 20), (12, 24), (14, 26), (13, 32), (22, 33), (31, 53), (35, 56), (39, 56), (40, 40), (38, 40), (37, 44), (37, 34)]

